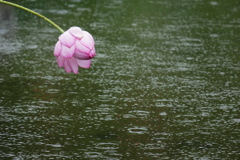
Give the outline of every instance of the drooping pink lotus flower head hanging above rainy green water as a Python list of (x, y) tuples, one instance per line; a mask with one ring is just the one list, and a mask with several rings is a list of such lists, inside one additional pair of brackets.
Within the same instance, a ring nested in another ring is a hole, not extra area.
[(54, 48), (59, 67), (67, 73), (78, 73), (78, 66), (89, 68), (91, 59), (96, 55), (92, 35), (79, 27), (71, 27), (58, 37)]

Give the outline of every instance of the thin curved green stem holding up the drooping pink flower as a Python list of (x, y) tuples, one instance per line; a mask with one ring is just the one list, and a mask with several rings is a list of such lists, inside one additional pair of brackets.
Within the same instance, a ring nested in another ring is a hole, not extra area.
[(15, 4), (15, 3), (11, 3), (11, 2), (7, 2), (7, 1), (3, 1), (3, 0), (0, 0), (0, 3), (4, 3), (4, 4), (7, 4), (7, 5), (11, 5), (11, 6), (14, 6), (14, 7), (17, 7), (17, 8), (20, 8), (20, 9), (23, 9), (25, 11), (28, 11), (32, 14), (35, 14), (36, 16), (38, 17), (41, 17), (42, 19), (44, 19), (45, 21), (49, 22), (50, 24), (52, 24), (55, 28), (57, 28), (61, 33), (64, 33), (64, 30), (62, 28), (60, 28), (56, 23), (54, 23), (53, 21), (51, 21), (50, 19), (48, 19), (47, 17), (31, 10), (31, 9), (28, 9), (26, 7), (23, 7), (23, 6), (20, 6), (18, 4)]

